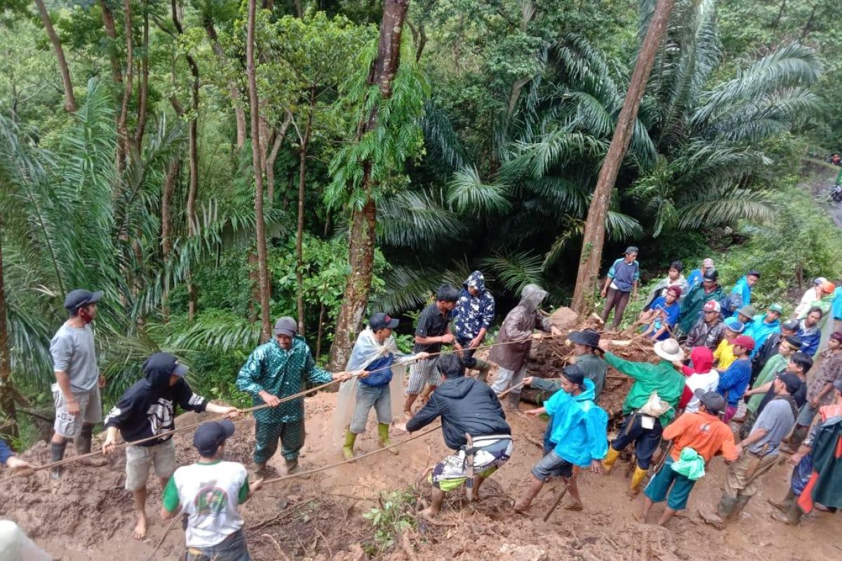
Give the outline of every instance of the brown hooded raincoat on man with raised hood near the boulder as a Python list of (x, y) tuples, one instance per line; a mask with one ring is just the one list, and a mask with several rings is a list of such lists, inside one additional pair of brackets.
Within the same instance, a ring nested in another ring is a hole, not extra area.
[(520, 303), (506, 315), (495, 343), (524, 340), (519, 343), (498, 345), (488, 354), (488, 360), (498, 363), (501, 368), (517, 371), (526, 363), (532, 348), (530, 336), (533, 329), (550, 332), (552, 324), (549, 318), (541, 317), (538, 306), (546, 297), (546, 290), (537, 284), (527, 284), (520, 295)]

